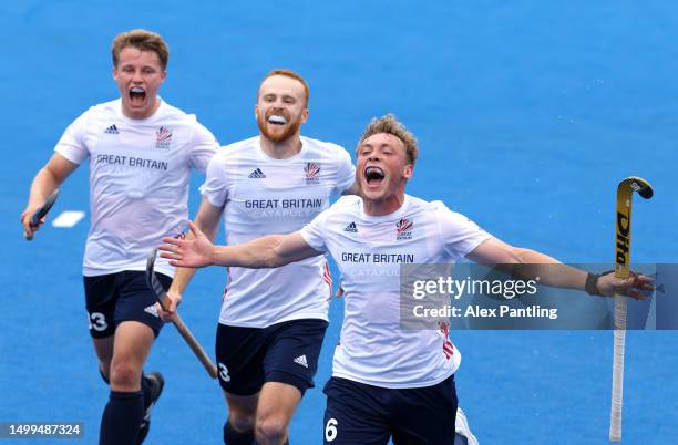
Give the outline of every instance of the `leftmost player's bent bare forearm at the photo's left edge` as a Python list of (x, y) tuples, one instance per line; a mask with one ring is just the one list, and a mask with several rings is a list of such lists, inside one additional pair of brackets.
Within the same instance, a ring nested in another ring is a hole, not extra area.
[[(78, 168), (78, 164), (73, 164), (59, 153), (54, 153), (47, 165), (38, 172), (31, 184), (28, 204), (20, 217), (23, 232), (28, 239), (33, 238), (34, 232), (40, 228), (40, 225), (33, 226), (31, 224), (33, 214), (75, 168)], [(42, 222), (40, 221), (40, 224)]]

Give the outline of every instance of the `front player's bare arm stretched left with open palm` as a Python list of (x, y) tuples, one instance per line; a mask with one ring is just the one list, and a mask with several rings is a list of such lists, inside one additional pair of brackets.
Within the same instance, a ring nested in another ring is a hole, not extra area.
[(276, 268), (322, 255), (310, 247), (296, 231), (289, 235), (268, 235), (244, 245), (214, 246), (193, 222), (188, 222), (193, 239), (163, 238), (161, 257), (172, 266), (199, 268), (205, 266)]

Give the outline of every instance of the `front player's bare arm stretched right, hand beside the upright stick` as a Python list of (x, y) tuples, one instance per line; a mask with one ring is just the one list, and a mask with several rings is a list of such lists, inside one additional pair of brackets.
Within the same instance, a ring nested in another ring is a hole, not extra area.
[[(515, 265), (510, 273), (524, 279), (540, 277), (540, 282), (556, 288), (586, 289), (588, 272), (563, 265), (561, 261), (542, 252), (513, 247), (496, 238), (490, 238), (472, 250), (466, 258), (471, 261), (486, 265)], [(547, 266), (546, 266), (547, 265)], [(604, 275), (594, 283), (598, 293), (604, 297), (625, 294), (636, 299), (644, 299), (644, 290), (653, 290), (653, 279), (636, 275), (628, 279), (620, 279), (613, 272)]]

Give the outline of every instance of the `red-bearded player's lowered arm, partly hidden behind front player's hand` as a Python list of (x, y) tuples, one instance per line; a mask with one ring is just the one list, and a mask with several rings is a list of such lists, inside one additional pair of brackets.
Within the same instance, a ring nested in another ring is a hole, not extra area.
[[(203, 198), (197, 216), (195, 217), (195, 226), (210, 240), (214, 241), (217, 230), (219, 228), (219, 220), (222, 219), (222, 208), (215, 207), (209, 203), (207, 198)], [(186, 239), (194, 239), (193, 232), (186, 235)], [(171, 320), (176, 312), (177, 306), (182, 301), (184, 290), (193, 279), (195, 269), (193, 268), (178, 268), (172, 280), (170, 289), (167, 289), (167, 308), (164, 310), (157, 304), (157, 312), (163, 319)]]

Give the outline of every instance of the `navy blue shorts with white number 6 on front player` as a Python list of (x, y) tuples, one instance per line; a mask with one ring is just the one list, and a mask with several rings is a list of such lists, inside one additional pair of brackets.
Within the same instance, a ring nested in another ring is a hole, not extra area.
[(323, 390), (325, 445), (453, 445), (454, 375), (425, 387), (391, 390), (331, 377)]

